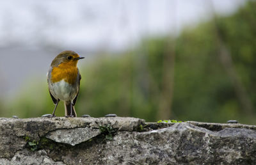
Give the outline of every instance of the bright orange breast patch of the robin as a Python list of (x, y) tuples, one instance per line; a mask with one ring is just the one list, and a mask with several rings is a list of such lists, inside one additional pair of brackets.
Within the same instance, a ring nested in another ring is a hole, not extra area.
[(68, 84), (74, 84), (77, 80), (77, 67), (72, 62), (61, 63), (58, 67), (53, 67), (51, 72), (52, 83), (61, 80), (66, 81)]

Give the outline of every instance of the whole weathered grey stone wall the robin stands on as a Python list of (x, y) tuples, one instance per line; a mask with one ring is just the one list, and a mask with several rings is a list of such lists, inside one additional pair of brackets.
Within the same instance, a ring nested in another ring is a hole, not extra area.
[(0, 131), (0, 164), (256, 164), (256, 126), (240, 123), (0, 118)]

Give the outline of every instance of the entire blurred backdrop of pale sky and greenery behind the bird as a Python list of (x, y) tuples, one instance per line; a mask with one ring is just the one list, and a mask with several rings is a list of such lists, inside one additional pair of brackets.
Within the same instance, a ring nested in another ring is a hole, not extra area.
[[(1, 1), (0, 117), (52, 113), (46, 72), (76, 51), (77, 115), (256, 124), (256, 2)], [(59, 104), (58, 116), (64, 115)]]

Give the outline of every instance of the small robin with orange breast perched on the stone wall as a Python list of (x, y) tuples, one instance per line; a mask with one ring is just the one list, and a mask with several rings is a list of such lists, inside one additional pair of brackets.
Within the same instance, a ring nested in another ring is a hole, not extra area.
[(51, 117), (56, 117), (55, 111), (60, 100), (64, 102), (66, 117), (77, 116), (74, 106), (81, 81), (81, 74), (77, 68), (79, 59), (83, 59), (83, 57), (76, 52), (63, 51), (52, 60), (51, 67), (47, 72), (48, 88), (55, 104)]

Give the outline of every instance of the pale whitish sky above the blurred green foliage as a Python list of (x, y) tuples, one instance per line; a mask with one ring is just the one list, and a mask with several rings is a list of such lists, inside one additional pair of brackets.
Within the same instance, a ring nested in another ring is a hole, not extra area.
[[(243, 0), (214, 0), (216, 12), (236, 10)], [(0, 46), (99, 46), (118, 49), (141, 35), (179, 33), (184, 25), (207, 19), (211, 1), (108, 0), (0, 2)]]

